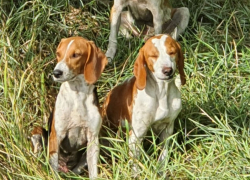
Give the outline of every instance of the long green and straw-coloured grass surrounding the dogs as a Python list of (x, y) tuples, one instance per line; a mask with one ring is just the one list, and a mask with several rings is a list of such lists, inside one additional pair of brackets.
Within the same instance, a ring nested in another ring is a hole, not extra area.
[[(174, 1), (173, 1), (174, 2)], [(0, 177), (81, 179), (57, 174), (47, 152), (35, 157), (28, 135), (46, 127), (59, 85), (51, 79), (61, 38), (80, 35), (105, 51), (112, 2), (0, 1)], [(184, 0), (191, 19), (180, 38), (187, 84), (176, 119), (165, 170), (169, 179), (250, 179), (250, 5), (246, 0)], [(132, 75), (143, 41), (119, 37), (115, 63), (97, 82), (107, 92)], [(138, 179), (162, 179), (155, 172), (160, 147), (150, 146), (137, 162)], [(110, 136), (110, 138), (113, 138)], [(133, 179), (122, 139), (113, 138), (110, 158), (101, 157), (100, 179)]]

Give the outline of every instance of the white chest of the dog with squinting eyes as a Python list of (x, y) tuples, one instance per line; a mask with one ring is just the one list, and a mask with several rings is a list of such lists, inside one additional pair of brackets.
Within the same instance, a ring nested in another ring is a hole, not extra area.
[(155, 92), (151, 92), (152, 89), (138, 92), (132, 121), (151, 124), (154, 129), (161, 129), (165, 127), (164, 125), (174, 121), (181, 111), (181, 94), (172, 82), (158, 90), (154, 89)]

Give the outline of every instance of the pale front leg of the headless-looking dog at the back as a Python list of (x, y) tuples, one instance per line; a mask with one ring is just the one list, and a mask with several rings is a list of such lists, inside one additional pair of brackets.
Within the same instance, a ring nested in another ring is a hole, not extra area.
[(111, 9), (110, 14), (110, 35), (109, 35), (109, 44), (106, 56), (111, 62), (115, 56), (117, 49), (117, 34), (121, 23), (121, 12), (123, 9), (123, 4), (120, 1), (114, 1), (114, 5)]

